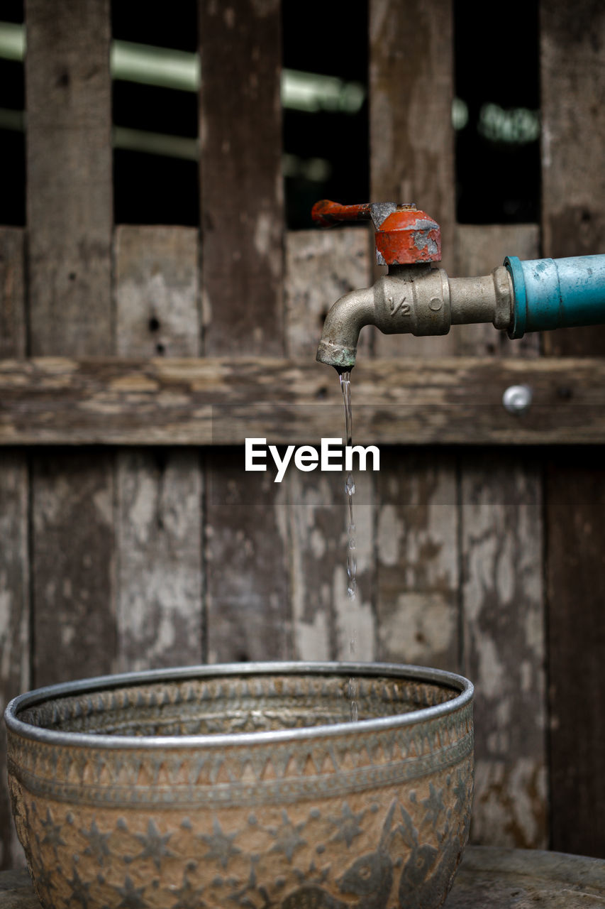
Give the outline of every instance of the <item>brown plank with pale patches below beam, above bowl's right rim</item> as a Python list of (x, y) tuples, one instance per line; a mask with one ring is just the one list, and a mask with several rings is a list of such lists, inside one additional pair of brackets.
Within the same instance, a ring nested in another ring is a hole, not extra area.
[(376, 477), (382, 660), (455, 669), (458, 511), (452, 454), (383, 451)]

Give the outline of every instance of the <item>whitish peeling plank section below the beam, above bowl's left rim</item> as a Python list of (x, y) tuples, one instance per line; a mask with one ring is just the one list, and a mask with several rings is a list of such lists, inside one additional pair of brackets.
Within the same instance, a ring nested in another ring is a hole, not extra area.
[(202, 661), (202, 475), (183, 450), (117, 464), (118, 672)]

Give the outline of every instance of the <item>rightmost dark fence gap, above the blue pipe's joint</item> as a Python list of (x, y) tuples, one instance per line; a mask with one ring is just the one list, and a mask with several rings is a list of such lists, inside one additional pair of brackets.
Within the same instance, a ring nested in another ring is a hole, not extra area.
[(540, 221), (537, 0), (455, 0), (456, 199), (461, 224)]

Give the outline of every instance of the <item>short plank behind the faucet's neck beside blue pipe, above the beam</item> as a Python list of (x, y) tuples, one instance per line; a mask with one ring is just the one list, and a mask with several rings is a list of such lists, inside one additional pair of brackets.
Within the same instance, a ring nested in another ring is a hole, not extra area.
[[(458, 225), (455, 238), (455, 275), (489, 275), (507, 255), (536, 259), (540, 255), (538, 225)], [(454, 325), (456, 354), (461, 356), (538, 356), (540, 335), (531, 333), (511, 341), (493, 325)]]

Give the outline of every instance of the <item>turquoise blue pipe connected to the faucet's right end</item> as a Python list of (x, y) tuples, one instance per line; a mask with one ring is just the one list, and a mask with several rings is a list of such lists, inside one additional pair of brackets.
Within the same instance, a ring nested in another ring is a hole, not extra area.
[(605, 324), (605, 255), (504, 260), (514, 289), (509, 336)]

